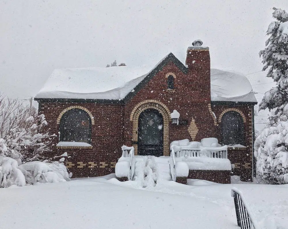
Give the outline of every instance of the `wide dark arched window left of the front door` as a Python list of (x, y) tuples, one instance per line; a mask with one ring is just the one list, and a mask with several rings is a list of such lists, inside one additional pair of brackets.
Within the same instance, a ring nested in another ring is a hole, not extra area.
[(91, 143), (91, 118), (82, 109), (71, 109), (60, 120), (60, 142)]

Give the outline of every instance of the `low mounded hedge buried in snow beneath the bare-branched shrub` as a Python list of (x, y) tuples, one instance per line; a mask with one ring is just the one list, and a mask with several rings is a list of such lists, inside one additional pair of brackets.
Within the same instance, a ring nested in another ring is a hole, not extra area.
[(6, 156), (0, 156), (0, 187), (11, 185), (24, 186), (27, 184), (54, 183), (69, 181), (69, 174), (64, 164), (59, 162), (18, 162)]

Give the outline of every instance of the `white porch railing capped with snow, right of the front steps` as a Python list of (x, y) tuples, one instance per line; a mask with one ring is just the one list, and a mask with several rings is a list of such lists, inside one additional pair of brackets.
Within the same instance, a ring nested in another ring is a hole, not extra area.
[[(177, 147), (177, 148), (176, 148)], [(175, 157), (213, 157), (227, 159), (227, 146), (223, 147), (205, 147), (202, 149), (189, 149), (180, 146), (172, 145), (170, 147), (171, 153), (174, 152)]]

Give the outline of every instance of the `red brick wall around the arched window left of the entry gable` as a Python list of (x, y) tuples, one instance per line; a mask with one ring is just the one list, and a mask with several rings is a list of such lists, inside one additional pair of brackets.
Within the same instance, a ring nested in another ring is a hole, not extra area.
[[(70, 106), (82, 106), (88, 109), (94, 117), (92, 125), (92, 149), (56, 149), (58, 143), (59, 124), (57, 118), (62, 110)], [(56, 134), (53, 152), (48, 156), (61, 155), (67, 152), (71, 157), (66, 165), (73, 172), (73, 177), (94, 177), (114, 172), (115, 163), (122, 155), (124, 106), (121, 104), (98, 103), (41, 103), (41, 110), (48, 122), (47, 129)]]

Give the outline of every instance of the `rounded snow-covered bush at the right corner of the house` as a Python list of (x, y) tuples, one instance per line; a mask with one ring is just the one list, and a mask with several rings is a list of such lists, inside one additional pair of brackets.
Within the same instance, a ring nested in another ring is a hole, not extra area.
[(254, 149), (257, 174), (267, 183), (288, 183), (288, 122), (265, 128)]

